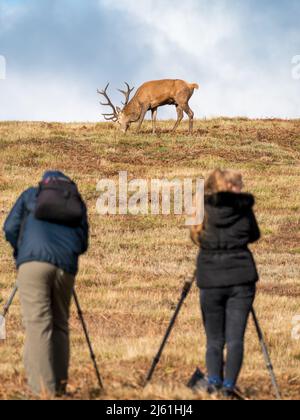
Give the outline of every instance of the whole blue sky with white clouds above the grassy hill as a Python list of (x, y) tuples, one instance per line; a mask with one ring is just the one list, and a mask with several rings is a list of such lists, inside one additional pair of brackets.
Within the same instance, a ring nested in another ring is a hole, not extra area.
[(98, 87), (161, 78), (201, 85), (198, 117), (299, 117), (299, 18), (299, 0), (0, 0), (0, 120), (97, 121)]

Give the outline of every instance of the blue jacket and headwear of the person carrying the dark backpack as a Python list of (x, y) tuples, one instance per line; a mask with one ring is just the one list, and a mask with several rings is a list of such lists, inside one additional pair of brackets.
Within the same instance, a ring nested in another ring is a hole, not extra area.
[[(62, 172), (46, 172), (43, 179), (65, 178)], [(5, 224), (6, 240), (14, 249), (17, 268), (38, 261), (52, 264), (65, 272), (76, 275), (78, 259), (88, 249), (89, 226), (87, 210), (80, 227), (48, 223), (35, 218), (37, 188), (23, 192)]]

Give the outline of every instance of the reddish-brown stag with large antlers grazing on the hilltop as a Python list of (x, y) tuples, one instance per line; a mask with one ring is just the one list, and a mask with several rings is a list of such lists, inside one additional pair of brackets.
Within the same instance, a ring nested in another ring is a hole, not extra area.
[(123, 109), (115, 107), (110, 100), (107, 89), (109, 84), (103, 91), (98, 93), (105, 97), (107, 103), (101, 103), (103, 106), (109, 106), (112, 113), (103, 114), (106, 121), (113, 121), (120, 125), (121, 130), (126, 133), (132, 123), (138, 122), (138, 131), (140, 131), (145, 116), (148, 111), (152, 112), (153, 134), (156, 132), (157, 110), (164, 105), (175, 105), (177, 110), (177, 121), (173, 128), (173, 132), (181, 123), (184, 112), (190, 120), (189, 132), (193, 132), (194, 112), (189, 106), (189, 100), (194, 94), (195, 89), (199, 89), (196, 83), (187, 83), (183, 80), (158, 80), (144, 83), (130, 100), (130, 94), (134, 90), (125, 83), (127, 91), (119, 90), (125, 96)]

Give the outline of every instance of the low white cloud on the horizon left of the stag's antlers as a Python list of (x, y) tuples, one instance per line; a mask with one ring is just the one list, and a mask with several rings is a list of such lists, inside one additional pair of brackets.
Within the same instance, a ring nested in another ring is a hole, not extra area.
[(0, 92), (0, 120), (99, 120), (96, 90), (88, 91), (70, 78), (9, 74), (0, 81)]

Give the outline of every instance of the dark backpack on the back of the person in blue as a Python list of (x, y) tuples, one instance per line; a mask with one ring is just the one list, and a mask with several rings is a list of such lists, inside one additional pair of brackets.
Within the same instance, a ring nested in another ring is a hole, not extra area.
[(78, 227), (85, 205), (77, 185), (66, 178), (48, 178), (39, 184), (35, 217), (45, 222)]

